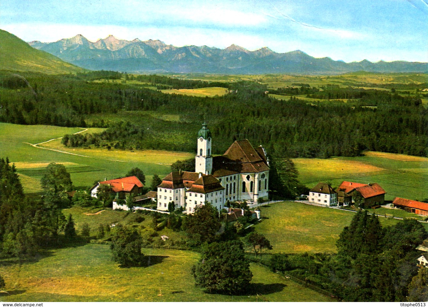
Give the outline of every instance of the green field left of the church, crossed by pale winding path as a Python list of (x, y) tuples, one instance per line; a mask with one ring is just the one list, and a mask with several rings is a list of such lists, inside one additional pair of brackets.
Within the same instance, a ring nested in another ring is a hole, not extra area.
[[(28, 144), (41, 143), (81, 130), (0, 123), (0, 157), (9, 157), (9, 161), (17, 163), (17, 170), (23, 179), (26, 193), (40, 191), (38, 182), (42, 176), (42, 168), (50, 162), (64, 163), (71, 173), (73, 184), (76, 187), (89, 188), (97, 180), (124, 176), (133, 167), (140, 167), (144, 171), (146, 185), (150, 185), (153, 174), (166, 176), (170, 171), (169, 164), (193, 157), (190, 153), (157, 150), (68, 149), (61, 145), (60, 140), (42, 144), (46, 148), (74, 154), (71, 155), (35, 148)], [(99, 128), (89, 128), (88, 132), (98, 131)]]

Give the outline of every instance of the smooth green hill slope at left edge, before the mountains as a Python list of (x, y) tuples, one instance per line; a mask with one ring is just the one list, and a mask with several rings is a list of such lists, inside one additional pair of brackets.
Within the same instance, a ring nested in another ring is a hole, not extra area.
[(53, 74), (84, 71), (52, 54), (32, 48), (4, 30), (0, 30), (0, 69)]

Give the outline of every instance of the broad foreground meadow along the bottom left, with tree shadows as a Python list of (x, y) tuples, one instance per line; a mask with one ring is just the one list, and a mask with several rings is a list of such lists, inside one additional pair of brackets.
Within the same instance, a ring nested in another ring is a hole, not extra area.
[[(279, 274), (251, 264), (251, 295), (209, 294), (194, 285), (190, 268), (199, 259), (191, 251), (143, 249), (151, 265), (119, 268), (109, 245), (86, 244), (51, 250), (18, 265), (0, 261), (6, 280), (1, 301), (331, 301)], [(160, 295), (161, 294), (161, 295)], [(259, 297), (256, 296), (259, 294)]]

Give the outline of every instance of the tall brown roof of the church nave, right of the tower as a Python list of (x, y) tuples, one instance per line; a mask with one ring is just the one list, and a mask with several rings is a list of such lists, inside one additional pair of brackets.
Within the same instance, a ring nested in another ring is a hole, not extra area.
[(259, 173), (269, 167), (262, 148), (256, 151), (248, 140), (238, 140), (224, 155), (213, 158), (213, 170), (214, 176), (221, 177), (233, 173)]

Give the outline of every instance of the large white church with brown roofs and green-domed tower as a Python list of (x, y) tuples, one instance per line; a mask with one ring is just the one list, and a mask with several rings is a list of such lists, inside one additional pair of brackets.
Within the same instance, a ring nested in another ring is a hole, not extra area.
[(268, 200), (269, 159), (262, 146), (256, 149), (237, 140), (223, 155), (211, 155), (211, 131), (202, 124), (198, 132), (195, 172), (169, 173), (158, 185), (158, 210), (167, 211), (170, 202), (190, 214), (195, 207), (211, 203), (218, 210), (226, 202), (249, 204)]

